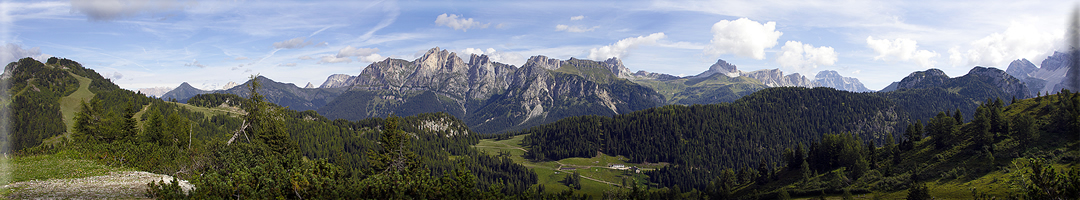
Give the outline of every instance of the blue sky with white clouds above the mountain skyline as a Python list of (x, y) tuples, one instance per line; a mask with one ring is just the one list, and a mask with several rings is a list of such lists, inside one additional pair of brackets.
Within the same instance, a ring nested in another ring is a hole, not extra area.
[(261, 75), (303, 86), (432, 48), (521, 66), (535, 55), (622, 59), (693, 76), (821, 70), (880, 90), (916, 70), (1039, 66), (1065, 48), (1077, 1), (195, 1), (0, 2), (0, 62), (66, 57), (121, 88), (221, 89)]

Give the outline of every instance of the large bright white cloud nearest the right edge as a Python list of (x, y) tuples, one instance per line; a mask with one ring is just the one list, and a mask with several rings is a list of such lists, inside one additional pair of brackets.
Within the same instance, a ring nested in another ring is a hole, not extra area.
[(1004, 32), (994, 32), (972, 41), (967, 51), (949, 49), (954, 66), (1007, 66), (1009, 62), (1027, 58), (1039, 63), (1064, 45), (1063, 34), (1049, 32), (1027, 24), (1013, 23)]

